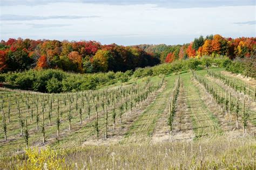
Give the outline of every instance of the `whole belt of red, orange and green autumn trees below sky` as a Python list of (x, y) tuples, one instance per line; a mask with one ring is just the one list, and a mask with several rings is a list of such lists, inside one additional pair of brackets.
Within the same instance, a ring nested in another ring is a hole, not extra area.
[(96, 73), (134, 70), (204, 55), (250, 58), (256, 38), (200, 36), (184, 45), (102, 45), (96, 41), (13, 39), (0, 42), (0, 72), (57, 68), (68, 72)]

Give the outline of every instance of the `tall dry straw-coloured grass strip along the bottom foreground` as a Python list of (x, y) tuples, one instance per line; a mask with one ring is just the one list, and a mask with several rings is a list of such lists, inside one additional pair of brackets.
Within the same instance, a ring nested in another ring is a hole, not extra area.
[[(201, 138), (158, 144), (86, 146), (59, 151), (63, 169), (255, 169), (255, 138)], [(5, 158), (0, 169), (25, 159)]]

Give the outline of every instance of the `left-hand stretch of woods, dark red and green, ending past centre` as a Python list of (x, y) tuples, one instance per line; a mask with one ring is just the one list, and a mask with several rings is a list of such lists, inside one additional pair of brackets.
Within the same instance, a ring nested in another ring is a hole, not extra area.
[(125, 72), (158, 63), (158, 58), (136, 46), (21, 38), (0, 43), (0, 73), (33, 68), (58, 68), (75, 73)]

